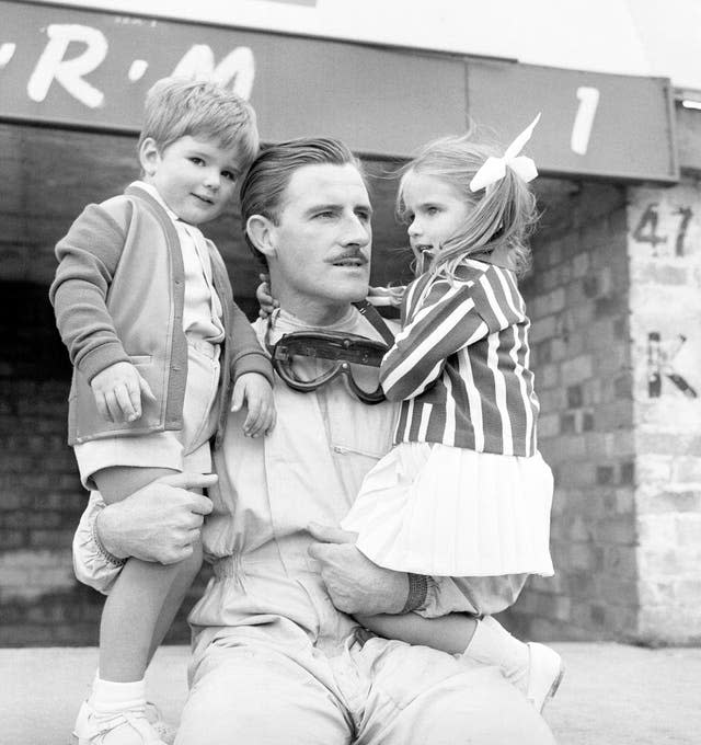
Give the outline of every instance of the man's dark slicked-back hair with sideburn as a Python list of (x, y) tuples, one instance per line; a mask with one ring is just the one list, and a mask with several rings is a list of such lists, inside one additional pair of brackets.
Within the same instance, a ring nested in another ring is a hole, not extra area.
[[(253, 161), (241, 182), (243, 234), (253, 255), (263, 264), (265, 256), (253, 245), (245, 226), (252, 215), (263, 215), (278, 224), (285, 192), (292, 174), (304, 165), (354, 165), (365, 182), (363, 164), (341, 140), (331, 137), (300, 137), (271, 145)], [(367, 184), (366, 184), (367, 186)]]

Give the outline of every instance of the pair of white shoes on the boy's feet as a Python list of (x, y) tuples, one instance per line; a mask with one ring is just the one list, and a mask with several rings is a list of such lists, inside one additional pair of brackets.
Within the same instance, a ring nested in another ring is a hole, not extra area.
[(83, 701), (76, 719), (72, 745), (170, 745), (175, 733), (152, 703), (104, 714)]

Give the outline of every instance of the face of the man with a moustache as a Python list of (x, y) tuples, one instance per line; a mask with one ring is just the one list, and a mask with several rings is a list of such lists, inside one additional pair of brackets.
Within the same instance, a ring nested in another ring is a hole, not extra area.
[(292, 173), (272, 228), (274, 293), (299, 313), (341, 308), (367, 295), (372, 208), (358, 170), (303, 165)]

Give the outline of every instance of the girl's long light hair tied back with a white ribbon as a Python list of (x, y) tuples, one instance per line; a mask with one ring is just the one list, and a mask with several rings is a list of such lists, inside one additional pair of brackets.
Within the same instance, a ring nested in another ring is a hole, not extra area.
[(397, 211), (401, 219), (406, 218), (404, 184), (412, 173), (448, 182), (466, 202), (474, 205), (458, 232), (437, 253), (430, 267), (433, 274), (455, 277), (464, 259), (501, 248), (508, 250), (517, 274), (530, 267), (528, 237), (538, 220), (538, 211), (536, 196), (528, 184), (507, 165), (504, 179), (479, 192), (470, 191), (472, 177), (486, 159), (502, 154), (503, 151), (487, 142), (474, 141), (469, 133), (428, 142), (400, 171)]

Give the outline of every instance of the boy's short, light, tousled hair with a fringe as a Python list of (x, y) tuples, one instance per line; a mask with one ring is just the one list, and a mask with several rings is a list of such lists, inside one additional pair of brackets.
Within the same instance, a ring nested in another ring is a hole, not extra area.
[(146, 94), (138, 148), (151, 137), (162, 151), (187, 136), (235, 149), (241, 172), (258, 152), (255, 112), (248, 101), (212, 81), (163, 78)]

